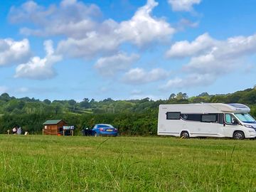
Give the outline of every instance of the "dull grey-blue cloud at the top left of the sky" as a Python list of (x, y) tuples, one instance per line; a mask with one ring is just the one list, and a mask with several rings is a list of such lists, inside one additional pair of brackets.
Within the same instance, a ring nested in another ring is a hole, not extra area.
[(21, 7), (11, 8), (9, 20), (12, 23), (33, 23), (32, 28), (21, 28), (21, 33), (28, 36), (81, 38), (96, 28), (94, 18), (100, 14), (97, 6), (87, 6), (82, 1), (63, 0), (59, 6), (53, 4), (48, 8), (39, 6), (35, 1), (27, 1)]

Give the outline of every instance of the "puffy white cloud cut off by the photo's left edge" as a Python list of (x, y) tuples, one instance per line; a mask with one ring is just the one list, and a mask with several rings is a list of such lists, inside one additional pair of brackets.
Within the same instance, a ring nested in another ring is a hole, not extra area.
[(28, 39), (22, 41), (14, 41), (11, 38), (0, 39), (0, 66), (23, 62), (30, 54)]

